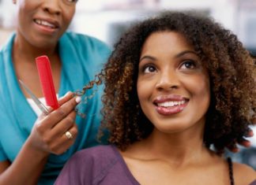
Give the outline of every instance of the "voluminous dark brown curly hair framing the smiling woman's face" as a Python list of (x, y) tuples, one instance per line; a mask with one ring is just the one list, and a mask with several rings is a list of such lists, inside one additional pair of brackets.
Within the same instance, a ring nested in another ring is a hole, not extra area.
[(152, 123), (141, 111), (136, 85), (141, 48), (149, 35), (159, 31), (182, 34), (209, 72), (205, 146), (213, 144), (220, 153), (224, 147), (234, 147), (247, 135), (256, 116), (254, 59), (232, 31), (213, 19), (179, 12), (143, 20), (115, 44), (100, 74), (105, 84), (102, 127), (110, 132), (109, 142), (125, 150), (152, 132)]

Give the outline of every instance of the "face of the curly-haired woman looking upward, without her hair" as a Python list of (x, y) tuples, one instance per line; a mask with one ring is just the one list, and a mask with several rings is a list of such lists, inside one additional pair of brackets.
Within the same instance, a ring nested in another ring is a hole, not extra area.
[(209, 77), (183, 35), (162, 31), (146, 39), (137, 94), (141, 109), (158, 131), (203, 130), (210, 102)]

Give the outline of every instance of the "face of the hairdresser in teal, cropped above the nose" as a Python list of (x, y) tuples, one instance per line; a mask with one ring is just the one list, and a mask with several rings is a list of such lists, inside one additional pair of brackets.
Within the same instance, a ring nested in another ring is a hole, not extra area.
[[(15, 1), (13, 1), (15, 2)], [(74, 0), (17, 0), (17, 36), (32, 46), (55, 46), (75, 13)]]

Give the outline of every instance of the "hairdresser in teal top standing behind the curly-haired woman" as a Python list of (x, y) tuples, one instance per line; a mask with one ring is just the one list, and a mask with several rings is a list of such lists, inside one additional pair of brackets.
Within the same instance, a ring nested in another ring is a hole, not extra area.
[[(13, 0), (17, 30), (0, 50), (0, 185), (53, 184), (77, 150), (95, 146), (100, 124), (100, 89), (75, 111), (80, 97), (72, 93), (94, 79), (110, 50), (87, 35), (66, 32), (76, 0)], [(86, 24), (85, 24), (86, 26)], [(35, 58), (51, 61), (59, 109), (43, 116), (22, 89), (43, 93)], [(88, 94), (88, 97), (91, 93)]]

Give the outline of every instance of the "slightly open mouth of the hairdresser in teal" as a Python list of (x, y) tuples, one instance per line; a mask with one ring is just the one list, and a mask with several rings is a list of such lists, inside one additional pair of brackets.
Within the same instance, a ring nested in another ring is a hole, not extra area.
[(58, 30), (58, 21), (46, 18), (36, 18), (33, 20), (36, 27), (43, 31), (43, 33), (52, 34)]

